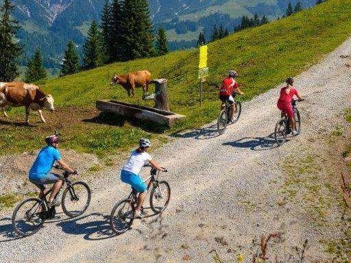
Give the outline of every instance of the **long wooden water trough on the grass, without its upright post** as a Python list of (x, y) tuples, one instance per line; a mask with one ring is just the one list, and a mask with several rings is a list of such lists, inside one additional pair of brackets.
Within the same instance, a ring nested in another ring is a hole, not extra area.
[(121, 101), (96, 101), (96, 108), (104, 112), (112, 112), (121, 116), (136, 118), (140, 121), (157, 123), (171, 127), (184, 115), (144, 107)]

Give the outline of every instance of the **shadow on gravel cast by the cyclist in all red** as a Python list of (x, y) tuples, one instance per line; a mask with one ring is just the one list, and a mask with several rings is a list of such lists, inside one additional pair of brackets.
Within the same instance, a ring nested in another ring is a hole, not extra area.
[(265, 151), (278, 147), (274, 134), (269, 134), (267, 137), (245, 137), (234, 142), (225, 142), (223, 145), (230, 145), (237, 148), (250, 148), (252, 151)]

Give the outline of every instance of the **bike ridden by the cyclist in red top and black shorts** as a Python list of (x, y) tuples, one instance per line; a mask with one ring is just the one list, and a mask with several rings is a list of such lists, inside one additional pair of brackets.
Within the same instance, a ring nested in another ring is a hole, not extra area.
[(219, 112), (217, 120), (217, 130), (219, 134), (223, 134), (226, 131), (227, 125), (229, 123), (236, 123), (239, 120), (241, 114), (241, 103), (235, 99), (237, 94), (237, 92), (233, 92), (232, 94), (232, 97), (234, 98), (234, 110), (237, 110), (234, 112), (232, 120), (230, 120), (230, 110), (232, 110), (232, 104), (230, 104), (229, 101), (226, 101), (225, 107), (223, 110), (221, 110), (221, 112)]

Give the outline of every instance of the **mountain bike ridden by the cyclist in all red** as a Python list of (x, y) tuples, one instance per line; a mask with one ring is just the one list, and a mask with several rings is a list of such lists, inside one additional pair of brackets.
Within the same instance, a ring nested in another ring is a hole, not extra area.
[[(301, 132), (301, 117), (298, 110), (296, 102), (300, 101), (298, 99), (293, 99), (291, 105), (293, 105), (293, 119), (295, 121), (295, 131), (300, 134)], [(289, 123), (289, 118), (285, 114), (284, 118), (280, 118), (278, 123), (276, 123), (276, 129), (274, 129), (274, 138), (276, 139), (277, 144), (280, 146), (287, 140), (287, 135), (291, 133), (291, 127)]]

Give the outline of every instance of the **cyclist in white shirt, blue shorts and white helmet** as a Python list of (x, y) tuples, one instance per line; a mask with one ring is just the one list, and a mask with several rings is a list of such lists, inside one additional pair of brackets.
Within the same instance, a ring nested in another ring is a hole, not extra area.
[(146, 188), (143, 179), (139, 175), (141, 168), (143, 168), (144, 164), (149, 163), (151, 166), (156, 168), (158, 171), (166, 171), (165, 168), (162, 168), (157, 162), (152, 160), (152, 157), (147, 153), (147, 148), (151, 145), (151, 142), (147, 139), (139, 140), (138, 149), (132, 151), (130, 158), (124, 164), (121, 171), (121, 180), (130, 184), (136, 192), (138, 192), (138, 201), (136, 202), (135, 216), (141, 218), (141, 205), (146, 196)]

